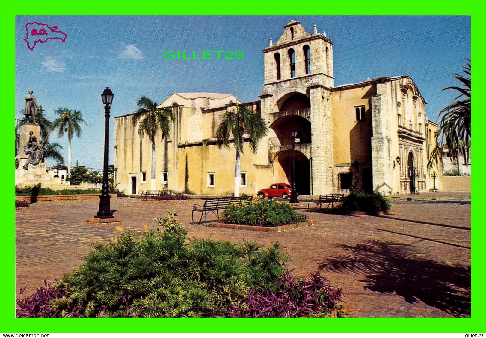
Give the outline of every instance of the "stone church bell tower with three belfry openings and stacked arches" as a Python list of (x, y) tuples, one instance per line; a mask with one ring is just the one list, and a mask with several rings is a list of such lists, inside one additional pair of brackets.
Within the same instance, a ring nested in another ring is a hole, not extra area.
[[(306, 32), (300, 22), (290, 21), (274, 44), (270, 38), (264, 54), (261, 115), (269, 126), (270, 161), (285, 172), (290, 130), (297, 129), (301, 162), (296, 167), (300, 194), (332, 193), (331, 88), (333, 42), (317, 32)], [(286, 152), (287, 151), (287, 152)], [(307, 162), (306, 162), (307, 161)], [(277, 177), (275, 177), (277, 179)], [(290, 179), (289, 179), (290, 182)]]

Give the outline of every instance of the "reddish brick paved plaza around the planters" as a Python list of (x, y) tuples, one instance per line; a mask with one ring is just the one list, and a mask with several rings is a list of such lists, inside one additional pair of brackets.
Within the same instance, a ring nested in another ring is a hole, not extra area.
[(74, 270), (89, 252), (87, 245), (114, 236), (117, 225), (143, 231), (171, 210), (179, 212), (191, 237), (280, 242), (292, 259), (288, 268), (300, 276), (316, 270), (328, 276), (342, 287), (355, 317), (470, 316), (470, 203), (394, 201), (384, 217), (325, 214), (302, 206), (298, 212), (315, 225), (280, 233), (191, 225), (196, 200), (112, 198), (122, 222), (87, 224), (98, 203), (38, 202), (16, 211), (17, 290), (25, 287), (30, 294), (44, 280)]

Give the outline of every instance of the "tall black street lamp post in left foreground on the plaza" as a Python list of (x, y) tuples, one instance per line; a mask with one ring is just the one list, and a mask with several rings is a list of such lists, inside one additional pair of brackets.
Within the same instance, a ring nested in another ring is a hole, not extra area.
[(104, 104), (104, 163), (103, 163), (103, 185), (101, 186), (100, 208), (94, 218), (113, 218), (110, 209), (110, 194), (108, 184), (108, 151), (109, 151), (109, 128), (110, 128), (110, 105), (113, 101), (113, 92), (106, 87), (101, 95)]

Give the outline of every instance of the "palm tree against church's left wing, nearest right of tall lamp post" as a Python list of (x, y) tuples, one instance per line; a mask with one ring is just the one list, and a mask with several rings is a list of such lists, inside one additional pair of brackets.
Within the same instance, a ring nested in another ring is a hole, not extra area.
[(160, 130), (162, 133), (161, 141), (169, 136), (170, 122), (174, 121), (174, 113), (165, 108), (157, 108), (157, 103), (150, 98), (142, 96), (137, 101), (139, 109), (132, 115), (133, 126), (139, 124), (139, 135), (147, 134), (152, 143), (152, 179), (150, 189), (155, 190), (155, 136)]

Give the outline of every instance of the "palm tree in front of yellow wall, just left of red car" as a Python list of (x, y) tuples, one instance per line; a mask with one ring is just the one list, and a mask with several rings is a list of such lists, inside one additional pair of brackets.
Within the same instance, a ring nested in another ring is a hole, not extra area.
[[(243, 135), (247, 135), (243, 139)], [(241, 185), (241, 154), (246, 141), (253, 153), (257, 152), (258, 142), (267, 134), (267, 124), (260, 114), (253, 113), (245, 107), (237, 106), (236, 110), (227, 110), (224, 119), (216, 130), (216, 138), (219, 146), (225, 145), (229, 148), (234, 143), (236, 149), (235, 161), (235, 197), (240, 196)]]

